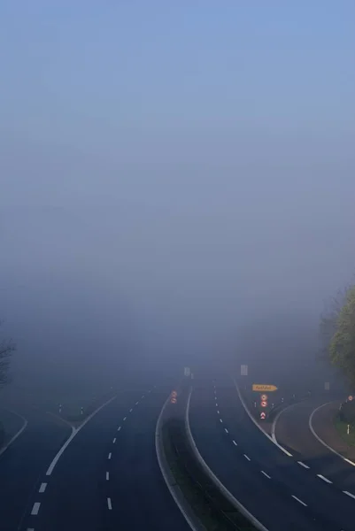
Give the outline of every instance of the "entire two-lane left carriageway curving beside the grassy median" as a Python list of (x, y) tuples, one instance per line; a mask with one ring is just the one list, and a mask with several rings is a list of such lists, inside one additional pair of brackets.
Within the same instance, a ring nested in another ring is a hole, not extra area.
[(155, 453), (158, 413), (170, 390), (115, 399), (97, 412), (50, 477), (43, 475), (47, 484), (21, 531), (188, 531)]

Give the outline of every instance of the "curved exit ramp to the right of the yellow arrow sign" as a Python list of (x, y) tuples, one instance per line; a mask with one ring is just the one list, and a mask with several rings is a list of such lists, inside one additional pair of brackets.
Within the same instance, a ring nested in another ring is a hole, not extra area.
[[(274, 436), (278, 443), (287, 447), (295, 457), (302, 459), (313, 473), (321, 474), (332, 481), (337, 489), (355, 496), (355, 466), (328, 450), (309, 427), (313, 411), (324, 402), (323, 398), (286, 408), (275, 419)], [(316, 416), (313, 416), (313, 425), (317, 427)]]

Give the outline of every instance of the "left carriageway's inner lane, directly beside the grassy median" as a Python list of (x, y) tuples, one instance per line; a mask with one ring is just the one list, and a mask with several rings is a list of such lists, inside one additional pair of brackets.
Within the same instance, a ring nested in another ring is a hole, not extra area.
[(166, 487), (155, 447), (158, 415), (171, 389), (154, 389), (138, 406), (127, 429), (120, 432), (108, 470), (107, 496), (112, 514), (107, 528), (132, 531), (190, 531)]

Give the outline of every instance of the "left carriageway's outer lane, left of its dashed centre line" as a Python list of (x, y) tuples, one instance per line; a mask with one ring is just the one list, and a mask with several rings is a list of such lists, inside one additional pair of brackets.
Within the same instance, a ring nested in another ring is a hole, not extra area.
[(45, 492), (36, 492), (32, 497), (32, 509), (38, 503), (40, 507), (36, 514), (27, 515), (21, 531), (101, 528), (107, 510), (102, 471), (115, 429), (138, 394), (138, 391), (123, 392), (97, 412), (75, 435), (48, 476), (46, 471), (54, 458), (51, 456), (41, 478), (48, 482)]

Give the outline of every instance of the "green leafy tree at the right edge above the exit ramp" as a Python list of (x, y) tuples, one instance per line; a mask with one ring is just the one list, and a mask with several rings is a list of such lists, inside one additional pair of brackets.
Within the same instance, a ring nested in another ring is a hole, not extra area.
[(346, 289), (344, 304), (333, 322), (329, 358), (339, 367), (355, 389), (355, 285)]

